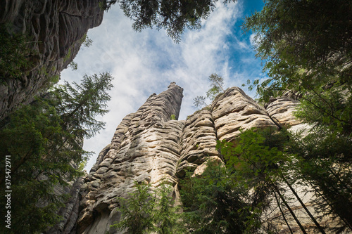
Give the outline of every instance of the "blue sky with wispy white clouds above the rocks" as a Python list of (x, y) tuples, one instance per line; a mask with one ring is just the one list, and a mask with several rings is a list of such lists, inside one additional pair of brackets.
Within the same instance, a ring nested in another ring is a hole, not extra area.
[[(179, 119), (185, 119), (196, 108), (193, 98), (205, 95), (208, 77), (220, 74), (225, 87), (241, 86), (247, 79), (263, 79), (260, 60), (255, 58), (251, 34), (241, 32), (245, 15), (263, 8), (261, 0), (239, 0), (237, 3), (217, 3), (201, 30), (187, 30), (180, 44), (175, 44), (164, 30), (134, 32), (132, 21), (116, 5), (104, 15), (102, 24), (89, 30), (93, 40), (89, 48), (82, 47), (75, 58), (78, 69), (61, 72), (61, 81), (79, 82), (83, 74), (111, 72), (114, 88), (108, 103), (111, 110), (101, 117), (106, 129), (84, 141), (84, 150), (94, 151), (87, 163), (93, 166), (99, 152), (111, 142), (116, 126), (125, 115), (136, 112), (151, 93), (161, 93), (170, 82), (184, 89)], [(250, 96), (255, 93), (244, 91)]]

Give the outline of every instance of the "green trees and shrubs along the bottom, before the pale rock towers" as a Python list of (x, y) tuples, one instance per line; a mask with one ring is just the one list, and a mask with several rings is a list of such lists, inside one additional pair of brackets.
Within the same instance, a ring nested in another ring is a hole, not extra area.
[[(184, 212), (180, 216), (174, 216), (177, 212), (172, 210), (170, 190), (152, 192), (149, 186), (136, 183), (136, 192), (130, 193), (127, 199), (118, 198), (122, 220), (114, 227), (127, 229), (128, 233), (175, 233), (176, 230), (181, 233), (277, 233), (272, 219), (265, 216), (276, 209), (291, 233), (294, 229), (289, 219), (296, 221), (302, 233), (308, 233), (301, 217), (294, 212), (291, 204), (294, 201), (301, 204), (303, 212), (315, 223), (317, 232), (325, 233), (319, 220), (326, 214), (339, 216), (344, 222), (340, 224), (346, 227), (350, 211), (341, 209), (337, 213), (334, 210), (340, 201), (348, 203), (351, 171), (347, 167), (331, 167), (329, 162), (324, 164), (326, 158), (306, 160), (306, 155), (300, 155), (300, 152), (313, 151), (301, 148), (296, 138), (285, 129), (268, 128), (241, 131), (233, 143), (219, 141), (217, 148), (225, 163), (209, 161), (202, 174), (194, 175), (189, 171), (182, 178), (180, 193)], [(317, 148), (316, 143), (314, 147)], [(339, 160), (335, 159), (334, 163), (341, 164)], [(337, 174), (341, 170), (344, 173)], [(334, 177), (329, 171), (335, 172)], [(320, 184), (314, 182), (318, 177), (321, 177)], [(313, 215), (302, 202), (304, 195), (298, 195), (295, 190), (298, 184), (312, 186), (319, 192), (314, 202), (321, 204), (318, 210), (322, 216)], [(288, 192), (291, 197), (285, 195)], [(329, 196), (325, 197), (327, 193)], [(168, 223), (167, 228), (162, 228), (164, 223)], [(184, 230), (181, 231), (179, 226), (184, 226)], [(340, 230), (343, 228), (332, 229), (333, 232)]]

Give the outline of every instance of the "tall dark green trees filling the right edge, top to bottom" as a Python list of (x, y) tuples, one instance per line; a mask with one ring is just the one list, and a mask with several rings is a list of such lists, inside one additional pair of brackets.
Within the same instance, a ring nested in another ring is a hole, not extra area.
[(350, 230), (351, 10), (344, 0), (271, 0), (244, 22), (256, 34), (257, 56), (269, 75), (250, 88), (260, 100), (283, 93), (298, 98), (295, 115), (311, 126), (304, 138), (290, 136), (291, 176), (313, 188), (320, 212)]

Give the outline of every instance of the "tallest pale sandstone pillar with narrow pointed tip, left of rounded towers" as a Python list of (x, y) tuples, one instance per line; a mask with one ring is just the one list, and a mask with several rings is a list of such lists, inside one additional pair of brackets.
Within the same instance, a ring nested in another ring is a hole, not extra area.
[(171, 83), (168, 90), (154, 93), (137, 112), (122, 119), (85, 179), (77, 233), (115, 233), (110, 225), (120, 219), (116, 197), (132, 192), (134, 181), (150, 183), (152, 188), (161, 181), (175, 186), (184, 122), (170, 117), (178, 118), (182, 91)]

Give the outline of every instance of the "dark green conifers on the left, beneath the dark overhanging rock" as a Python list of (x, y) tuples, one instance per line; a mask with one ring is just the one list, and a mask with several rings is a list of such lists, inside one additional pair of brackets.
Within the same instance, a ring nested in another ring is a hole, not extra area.
[[(72, 165), (90, 155), (82, 150), (83, 138), (103, 129), (95, 117), (108, 112), (112, 79), (103, 73), (84, 75), (75, 87), (65, 82), (0, 123), (1, 155), (11, 155), (11, 233), (39, 233), (60, 219), (56, 213), (67, 197), (54, 188), (82, 176), (82, 167)], [(1, 171), (4, 166), (1, 158)], [(3, 188), (5, 181), (1, 174)], [(0, 193), (4, 197), (4, 190)]]

